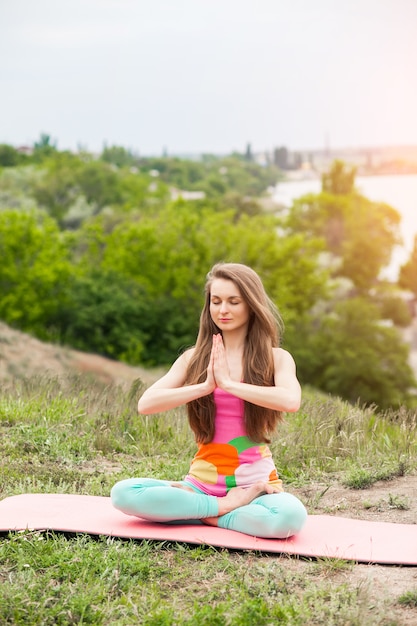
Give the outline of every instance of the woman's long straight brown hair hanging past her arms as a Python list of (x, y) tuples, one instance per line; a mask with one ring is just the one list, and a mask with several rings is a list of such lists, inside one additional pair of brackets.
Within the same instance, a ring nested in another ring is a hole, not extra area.
[[(262, 386), (274, 385), (272, 348), (279, 346), (282, 321), (267, 296), (258, 274), (241, 263), (217, 263), (207, 274), (206, 299), (200, 315), (200, 328), (193, 356), (187, 369), (186, 384), (206, 379), (213, 334), (221, 332), (210, 315), (210, 290), (213, 280), (231, 280), (249, 307), (249, 325), (243, 351), (243, 380)], [(269, 435), (282, 419), (282, 412), (244, 402), (245, 428), (255, 442), (269, 443)], [(215, 405), (213, 394), (187, 404), (190, 427), (198, 443), (208, 443), (214, 437)]]

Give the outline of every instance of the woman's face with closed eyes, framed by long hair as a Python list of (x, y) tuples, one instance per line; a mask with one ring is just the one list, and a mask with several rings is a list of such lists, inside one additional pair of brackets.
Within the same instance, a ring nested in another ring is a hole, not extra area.
[(210, 315), (221, 331), (247, 327), (249, 307), (232, 280), (215, 278), (210, 289)]

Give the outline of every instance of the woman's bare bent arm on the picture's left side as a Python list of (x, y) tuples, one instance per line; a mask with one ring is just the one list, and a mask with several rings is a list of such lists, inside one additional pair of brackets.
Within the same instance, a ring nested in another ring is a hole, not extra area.
[(138, 402), (139, 413), (150, 415), (168, 411), (191, 400), (196, 400), (211, 393), (215, 387), (212, 360), (208, 368), (207, 379), (196, 385), (186, 385), (185, 375), (192, 350), (184, 352), (173, 364), (169, 372), (151, 385)]

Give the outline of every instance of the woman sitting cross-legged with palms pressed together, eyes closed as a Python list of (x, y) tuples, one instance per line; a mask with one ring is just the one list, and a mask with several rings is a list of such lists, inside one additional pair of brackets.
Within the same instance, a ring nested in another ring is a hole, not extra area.
[(131, 478), (111, 492), (127, 515), (205, 524), (268, 538), (289, 537), (307, 517), (285, 493), (268, 447), (301, 389), (291, 355), (279, 348), (280, 322), (259, 276), (239, 263), (207, 275), (196, 344), (139, 400), (149, 415), (187, 405), (197, 452), (183, 481)]

